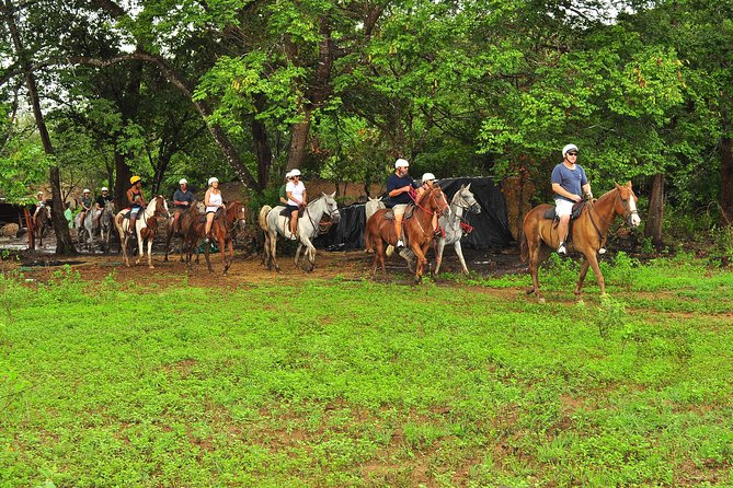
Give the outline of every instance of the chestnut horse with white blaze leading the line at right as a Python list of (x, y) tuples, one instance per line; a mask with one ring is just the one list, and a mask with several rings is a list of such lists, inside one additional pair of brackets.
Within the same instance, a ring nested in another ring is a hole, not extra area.
[[(600, 287), (600, 294), (606, 294), (606, 284), (598, 267), (598, 257), (596, 253), (606, 241), (606, 234), (617, 216), (623, 216), (626, 222), (632, 229), (641, 223), (639, 212), (637, 211), (637, 196), (631, 189), (631, 182), (621, 186), (618, 183), (616, 188), (606, 193), (596, 201), (587, 202), (580, 217), (571, 221), (571, 234), (568, 240), (568, 251), (574, 249), (585, 256), (581, 266), (581, 276), (575, 287), (575, 297), (580, 300), (583, 280), (588, 272), (588, 266), (593, 268)], [(539, 281), (537, 270), (539, 265), (548, 258), (553, 249), (560, 245), (558, 231), (552, 219), (547, 219), (545, 213), (553, 210), (548, 204), (542, 204), (529, 211), (523, 222), (524, 235), (522, 236), (522, 260), (529, 258), (529, 274), (532, 279), (532, 287), (527, 290), (527, 294), (535, 295), (543, 301), (539, 291)]]

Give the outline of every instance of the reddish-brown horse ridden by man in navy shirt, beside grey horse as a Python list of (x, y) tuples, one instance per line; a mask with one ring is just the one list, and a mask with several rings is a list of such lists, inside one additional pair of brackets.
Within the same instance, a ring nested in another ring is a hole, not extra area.
[[(385, 252), (387, 245), (397, 244), (394, 234), (394, 222), (385, 219), (385, 214), (391, 210), (377, 210), (367, 221), (365, 244), (367, 251), (375, 251), (373, 275), (377, 275), (377, 266), (381, 265), (381, 270), (387, 278), (387, 268), (385, 267)], [(427, 259), (425, 253), (433, 241), (433, 214), (447, 216), (449, 212), (448, 201), (439, 186), (425, 191), (415, 202), (415, 209), (412, 217), (402, 221), (402, 229), (408, 241), (408, 246), (417, 258), (415, 266), (415, 282), (419, 282), (425, 270)]]

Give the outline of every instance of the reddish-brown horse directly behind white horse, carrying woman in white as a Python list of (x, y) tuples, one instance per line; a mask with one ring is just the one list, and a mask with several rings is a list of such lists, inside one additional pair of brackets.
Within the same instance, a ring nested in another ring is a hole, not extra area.
[[(224, 263), (224, 274), (229, 272), (229, 267), (231, 262), (234, 259), (234, 244), (233, 236), (237, 226), (244, 226), (245, 223), (245, 207), (239, 201), (234, 200), (226, 206), (224, 210), (219, 210), (211, 223), (211, 230), (209, 232), (210, 239), (219, 243), (219, 249), (221, 251), (221, 263)], [(188, 210), (186, 213), (192, 213), (193, 210)], [(181, 217), (182, 219), (186, 216)], [(201, 216), (203, 217), (203, 216)], [(187, 222), (181, 223), (181, 229), (183, 230), (184, 239), (188, 247), (188, 257), (186, 262), (188, 263), (188, 269), (191, 269), (191, 255), (194, 253), (194, 248), (197, 246), (198, 242), (206, 236), (206, 221), (204, 219), (196, 219), (192, 224)], [(187, 224), (188, 228), (184, 228), (184, 224)], [(227, 257), (226, 249), (229, 249), (229, 256)], [(214, 272), (211, 267), (211, 262), (209, 259), (209, 246), (206, 244), (204, 247), (204, 257), (206, 257), (206, 266), (208, 267), (209, 272)]]

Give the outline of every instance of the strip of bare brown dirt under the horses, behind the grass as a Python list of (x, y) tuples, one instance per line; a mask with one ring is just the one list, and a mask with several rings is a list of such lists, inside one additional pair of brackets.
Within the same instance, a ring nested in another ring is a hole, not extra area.
[[(51, 236), (48, 240), (55, 244)], [(371, 274), (371, 254), (364, 251), (348, 252), (328, 252), (318, 249), (316, 257), (316, 268), (311, 272), (306, 272), (301, 267), (296, 268), (293, 262), (295, 248), (289, 243), (278, 245), (278, 263), (282, 272), (268, 270), (262, 264), (262, 256), (254, 244), (234, 248), (234, 260), (226, 276), (221, 275), (222, 260), (220, 253), (211, 253), (211, 266), (214, 272), (208, 272), (206, 262), (202, 254), (201, 264), (195, 263), (191, 271), (184, 263), (179, 260), (177, 254), (169, 256), (169, 262), (163, 262), (162, 244), (156, 241), (153, 248), (153, 269), (147, 266), (147, 257), (137, 266), (127, 268), (123, 264), (121, 254), (113, 253), (104, 255), (101, 253), (80, 253), (77, 256), (56, 256), (53, 247), (46, 247), (41, 251), (19, 249), (22, 242), (10, 243), (0, 242), (0, 249), (4, 251), (4, 257), (0, 270), (9, 271), (20, 269), (26, 278), (37, 281), (47, 281), (54, 271), (64, 265), (71, 266), (72, 269), (80, 272), (84, 280), (101, 280), (111, 272), (115, 272), (119, 281), (127, 281), (133, 276), (141, 282), (156, 282), (159, 286), (176, 286), (181, 280), (187, 280), (191, 286), (224, 286), (237, 287), (247, 283), (256, 282), (293, 282), (293, 277), (303, 277), (308, 279), (332, 280), (362, 280), (370, 279)], [(173, 246), (175, 249), (175, 245)], [(525, 272), (526, 266), (519, 260), (518, 249), (509, 247), (506, 249), (496, 249), (489, 252), (479, 252), (473, 249), (463, 249), (463, 254), (469, 269), (476, 270), (481, 275), (503, 275), (506, 272)], [(433, 251), (428, 253), (428, 259), (432, 266), (435, 266)], [(302, 260), (302, 259), (301, 259)], [(444, 253), (444, 264), (440, 271), (460, 272), (460, 263), (453, 247), (446, 248)], [(392, 282), (410, 282), (408, 278), (408, 267), (405, 262), (394, 255), (388, 258), (387, 271)], [(381, 275), (380, 275), (381, 276)], [(381, 278), (379, 278), (381, 279)]]

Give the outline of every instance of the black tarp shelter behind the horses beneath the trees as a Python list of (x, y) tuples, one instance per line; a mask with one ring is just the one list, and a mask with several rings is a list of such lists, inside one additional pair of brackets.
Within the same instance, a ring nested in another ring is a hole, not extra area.
[[(466, 177), (439, 179), (438, 185), (445, 191), (448, 201), (461, 185), (471, 184), (471, 193), (481, 206), (481, 213), (466, 214), (466, 221), (473, 231), (463, 236), (461, 244), (466, 247), (485, 251), (506, 247), (512, 241), (504, 195), (490, 177)], [(352, 205), (340, 209), (341, 222), (331, 231), (318, 237), (314, 244), (329, 249), (364, 248), (364, 231), (366, 228), (366, 209), (364, 204)]]

